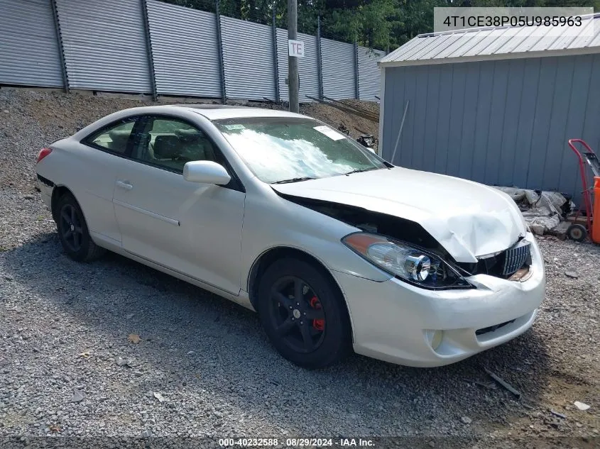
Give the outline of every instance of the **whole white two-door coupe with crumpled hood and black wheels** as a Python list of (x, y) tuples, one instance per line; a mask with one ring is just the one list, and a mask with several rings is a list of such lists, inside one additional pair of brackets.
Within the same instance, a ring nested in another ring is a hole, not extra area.
[(506, 194), (295, 113), (127, 109), (40, 150), (37, 174), (72, 259), (111, 250), (236, 301), (303, 367), (457, 362), (525, 332), (544, 298)]

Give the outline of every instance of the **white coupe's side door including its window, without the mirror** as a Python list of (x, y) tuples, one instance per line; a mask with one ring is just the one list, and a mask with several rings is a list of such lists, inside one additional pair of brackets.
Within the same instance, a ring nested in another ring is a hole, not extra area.
[(227, 167), (216, 145), (187, 121), (141, 118), (131, 158), (116, 174), (113, 203), (123, 248), (239, 294), (246, 194), (231, 170), (227, 186), (185, 181), (183, 165), (190, 160)]

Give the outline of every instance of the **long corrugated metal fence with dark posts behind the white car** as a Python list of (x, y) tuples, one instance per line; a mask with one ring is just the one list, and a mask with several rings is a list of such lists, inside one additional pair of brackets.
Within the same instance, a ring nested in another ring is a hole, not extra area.
[[(0, 84), (288, 100), (280, 28), (158, 0), (0, 0), (0, 16)], [(298, 39), (300, 101), (376, 100), (383, 52)]]

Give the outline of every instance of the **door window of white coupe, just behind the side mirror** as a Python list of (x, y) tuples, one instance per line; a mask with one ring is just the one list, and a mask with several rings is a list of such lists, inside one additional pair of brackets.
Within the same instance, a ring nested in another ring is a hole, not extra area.
[(182, 172), (185, 162), (216, 160), (216, 150), (202, 131), (177, 118), (148, 116), (131, 157)]

